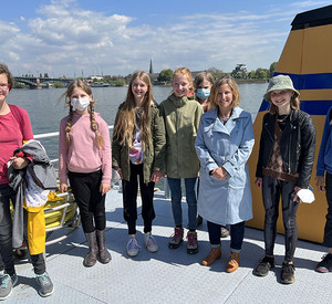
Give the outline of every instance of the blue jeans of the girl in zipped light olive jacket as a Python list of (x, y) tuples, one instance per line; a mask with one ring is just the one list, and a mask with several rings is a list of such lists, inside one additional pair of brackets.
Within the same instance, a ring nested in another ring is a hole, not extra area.
[[(197, 178), (185, 178), (186, 200), (188, 203), (188, 228), (196, 230), (197, 200), (195, 185)], [(180, 178), (167, 178), (172, 196), (172, 211), (176, 227), (183, 227), (183, 208), (181, 208), (181, 180)]]

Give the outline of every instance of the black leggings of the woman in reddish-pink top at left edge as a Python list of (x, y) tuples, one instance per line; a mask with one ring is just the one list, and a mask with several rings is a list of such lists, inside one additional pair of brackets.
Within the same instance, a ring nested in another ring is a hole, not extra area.
[[(12, 255), (10, 200), (15, 200), (15, 192), (8, 185), (0, 185), (0, 253), (6, 273), (13, 275), (15, 273), (15, 269)], [(43, 274), (45, 272), (46, 265), (43, 253), (31, 255), (31, 262), (35, 274)]]

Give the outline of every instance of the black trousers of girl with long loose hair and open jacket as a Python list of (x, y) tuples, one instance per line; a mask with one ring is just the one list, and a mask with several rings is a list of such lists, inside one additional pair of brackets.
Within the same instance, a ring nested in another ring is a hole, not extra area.
[(122, 180), (123, 188), (123, 214), (128, 224), (128, 234), (136, 233), (136, 220), (137, 220), (137, 190), (139, 177), (139, 190), (142, 197), (142, 218), (144, 220), (144, 232), (152, 231), (152, 222), (156, 217), (154, 210), (154, 182), (144, 184), (143, 164), (133, 165), (131, 163), (131, 179)]

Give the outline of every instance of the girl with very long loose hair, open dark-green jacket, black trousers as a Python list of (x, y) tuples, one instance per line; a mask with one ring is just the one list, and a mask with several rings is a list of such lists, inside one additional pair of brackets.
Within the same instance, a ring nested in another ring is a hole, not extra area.
[(129, 241), (127, 254), (138, 254), (136, 239), (137, 220), (137, 176), (142, 197), (144, 241), (149, 252), (156, 252), (158, 244), (152, 235), (155, 218), (153, 206), (155, 182), (164, 176), (165, 128), (159, 109), (154, 102), (149, 76), (138, 71), (134, 73), (126, 96), (116, 114), (112, 155), (112, 166), (122, 178), (124, 219), (128, 226)]

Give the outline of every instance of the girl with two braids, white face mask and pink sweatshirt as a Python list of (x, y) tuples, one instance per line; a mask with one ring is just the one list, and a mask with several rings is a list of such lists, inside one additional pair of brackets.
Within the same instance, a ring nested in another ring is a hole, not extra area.
[(68, 190), (69, 179), (80, 208), (89, 244), (83, 264), (93, 266), (97, 254), (105, 264), (111, 261), (105, 245), (105, 195), (111, 189), (112, 174), (108, 126), (94, 112), (92, 91), (83, 81), (72, 82), (62, 97), (70, 113), (60, 124), (60, 189)]

